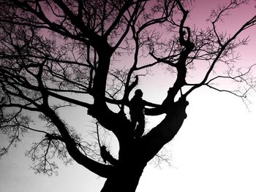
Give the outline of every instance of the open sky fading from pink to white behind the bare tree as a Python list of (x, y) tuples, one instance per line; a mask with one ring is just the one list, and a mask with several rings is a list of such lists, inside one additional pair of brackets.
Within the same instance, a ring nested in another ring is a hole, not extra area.
[[(206, 15), (217, 2), (197, 1), (191, 20), (204, 26)], [(256, 12), (255, 4), (252, 1), (249, 7), (230, 15), (232, 22), (224, 23), (223, 30), (237, 28), (239, 23)], [(238, 65), (256, 63), (255, 31), (256, 28), (246, 31), (246, 34), (252, 34), (251, 42), (242, 47)], [(150, 84), (146, 80), (141, 82), (141, 88), (147, 93), (146, 100), (157, 101), (165, 97), (170, 86), (166, 76), (165, 72), (158, 71), (151, 77)], [(155, 96), (156, 90), (161, 96)], [(200, 88), (188, 100), (188, 117), (173, 141), (166, 146), (170, 150), (170, 166), (163, 164), (158, 168), (148, 164), (137, 192), (256, 191), (256, 96), (252, 96), (249, 110), (237, 97), (208, 88)], [(151, 126), (157, 122), (153, 118)], [(0, 135), (0, 143), (2, 139)], [(33, 138), (24, 139), (0, 160), (0, 192), (100, 191), (105, 180), (75, 162), (69, 166), (59, 164), (58, 176), (34, 174), (29, 169), (30, 159), (24, 155), (32, 141)]]

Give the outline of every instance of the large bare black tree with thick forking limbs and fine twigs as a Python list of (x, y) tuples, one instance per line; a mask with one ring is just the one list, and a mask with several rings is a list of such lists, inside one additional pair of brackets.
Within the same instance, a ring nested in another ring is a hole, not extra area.
[[(27, 153), (36, 172), (55, 172), (56, 156), (107, 178), (102, 191), (135, 191), (148, 161), (187, 118), (189, 93), (208, 86), (246, 101), (254, 88), (251, 68), (237, 71), (234, 62), (236, 47), (247, 43), (238, 35), (255, 25), (256, 16), (234, 34), (217, 27), (227, 12), (248, 2), (219, 6), (211, 12), (211, 25), (198, 29), (187, 24), (192, 2), (186, 0), (1, 0), (0, 128), (10, 139), (1, 155), (26, 131), (41, 132), (42, 140)], [(189, 82), (197, 61), (206, 61), (208, 69)], [(162, 104), (145, 112), (165, 118), (138, 139), (126, 116), (130, 93), (140, 75), (159, 64), (173, 73), (174, 83)], [(217, 64), (225, 66), (225, 74), (214, 72)], [(217, 87), (214, 82), (222, 79), (237, 82), (238, 89)], [(85, 142), (61, 118), (61, 107), (74, 106), (97, 120), (97, 140), (99, 126), (116, 136), (118, 158), (100, 142)], [(34, 114), (45, 122), (44, 130), (33, 126)]]

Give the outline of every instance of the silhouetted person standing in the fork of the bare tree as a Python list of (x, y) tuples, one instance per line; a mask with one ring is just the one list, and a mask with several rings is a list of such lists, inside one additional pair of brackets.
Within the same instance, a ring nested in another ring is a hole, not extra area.
[(135, 131), (135, 137), (142, 137), (145, 129), (145, 107), (157, 107), (157, 104), (152, 104), (142, 99), (143, 92), (140, 89), (135, 91), (135, 96), (129, 101), (129, 115), (132, 122), (132, 127)]

